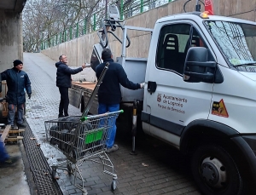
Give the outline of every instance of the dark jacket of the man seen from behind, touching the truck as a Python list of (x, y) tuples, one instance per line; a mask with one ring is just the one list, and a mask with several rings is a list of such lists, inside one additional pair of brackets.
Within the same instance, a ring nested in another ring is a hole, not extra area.
[(98, 91), (99, 103), (119, 104), (122, 98), (119, 84), (127, 89), (135, 90), (141, 88), (139, 83), (132, 83), (128, 79), (123, 66), (113, 62), (113, 59), (103, 61), (102, 64), (96, 66), (96, 77), (99, 79), (106, 62), (109, 62), (108, 71), (106, 72)]

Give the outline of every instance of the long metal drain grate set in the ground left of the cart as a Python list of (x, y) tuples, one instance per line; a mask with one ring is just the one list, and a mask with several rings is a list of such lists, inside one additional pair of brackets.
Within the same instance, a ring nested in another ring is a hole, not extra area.
[(37, 145), (37, 141), (31, 138), (34, 137), (32, 129), (26, 123), (25, 132), (21, 133), (23, 136), (23, 145), (25, 147), (26, 156), (32, 171), (33, 179), (37, 186), (39, 195), (61, 195), (61, 188), (57, 181), (53, 181), (51, 178), (51, 169), (47, 163), (44, 153), (40, 146)]

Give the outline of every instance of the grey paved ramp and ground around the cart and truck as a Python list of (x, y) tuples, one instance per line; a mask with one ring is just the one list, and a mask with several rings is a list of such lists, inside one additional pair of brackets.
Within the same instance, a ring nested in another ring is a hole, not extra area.
[[(67, 54), (68, 55), (68, 54)], [(72, 64), (70, 64), (72, 66)], [(55, 87), (55, 61), (44, 54), (24, 53), (24, 70), (32, 82), (32, 98), (26, 101), (26, 121), (41, 143), (49, 165), (59, 163), (65, 156), (45, 142), (44, 121), (55, 119), (60, 95)], [(69, 115), (80, 115), (79, 109), (69, 106)], [(130, 155), (131, 136), (118, 129), (119, 150), (109, 154), (118, 175), (117, 189), (110, 189), (112, 176), (102, 174), (102, 165), (84, 162), (79, 169), (89, 195), (93, 194), (200, 194), (189, 172), (188, 159), (170, 146), (148, 137), (136, 139), (136, 156)], [(73, 186), (73, 176), (58, 170), (63, 194), (82, 194)]]

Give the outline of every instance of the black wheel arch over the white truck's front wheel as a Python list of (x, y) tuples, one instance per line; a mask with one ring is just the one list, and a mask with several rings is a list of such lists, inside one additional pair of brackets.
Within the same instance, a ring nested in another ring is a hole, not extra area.
[(211, 120), (195, 120), (189, 123), (183, 129), (180, 151), (190, 155), (196, 146), (209, 142), (219, 144), (228, 150), (243, 172), (249, 167), (252, 171), (250, 178), (256, 182), (256, 176), (253, 176), (256, 175), (256, 158), (252, 148), (236, 129), (223, 123)]

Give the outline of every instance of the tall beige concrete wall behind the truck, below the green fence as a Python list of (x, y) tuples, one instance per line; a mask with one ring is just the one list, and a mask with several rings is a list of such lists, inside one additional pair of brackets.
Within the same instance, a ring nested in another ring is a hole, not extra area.
[[(177, 0), (172, 3), (168, 3), (159, 8), (152, 9), (143, 14), (134, 16), (126, 20), (127, 26), (141, 26), (147, 28), (154, 28), (154, 23), (159, 18), (170, 15), (183, 13), (183, 4), (187, 0)], [(232, 16), (236, 18), (253, 20), (255, 18), (256, 0), (213, 0), (214, 14)], [(195, 10), (196, 0), (192, 0), (187, 3), (186, 11)], [(202, 6), (202, 10), (204, 10)], [(243, 13), (243, 14), (241, 14)], [(120, 32), (116, 32), (121, 36)], [(150, 43), (150, 35), (143, 32), (128, 32), (131, 39), (131, 46), (126, 50), (126, 55), (129, 57), (148, 57), (148, 47)], [(112, 36), (113, 37), (113, 36)], [(53, 60), (58, 60), (60, 54), (67, 54), (68, 65), (81, 66), (83, 62), (90, 63), (90, 54), (92, 52), (92, 45), (99, 43), (99, 38), (96, 32), (84, 35), (73, 41), (67, 43), (61, 43), (60, 45), (51, 49), (44, 49), (43, 54), (48, 55)], [(109, 45), (115, 56), (119, 56), (121, 53), (121, 44), (110, 38)]]

